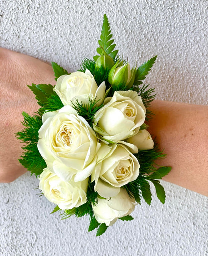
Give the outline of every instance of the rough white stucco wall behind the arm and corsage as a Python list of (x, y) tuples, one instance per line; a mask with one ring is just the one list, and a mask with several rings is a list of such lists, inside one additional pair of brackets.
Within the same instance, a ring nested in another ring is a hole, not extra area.
[[(158, 55), (146, 79), (158, 99), (207, 104), (206, 0), (0, 0), (0, 47), (73, 72), (96, 54), (104, 13), (131, 65)], [(152, 190), (150, 207), (143, 202), (133, 221), (117, 221), (100, 237), (87, 232), (87, 217), (50, 214), (54, 206), (36, 195), (29, 173), (0, 184), (0, 255), (208, 255), (207, 198), (162, 184), (165, 205)]]

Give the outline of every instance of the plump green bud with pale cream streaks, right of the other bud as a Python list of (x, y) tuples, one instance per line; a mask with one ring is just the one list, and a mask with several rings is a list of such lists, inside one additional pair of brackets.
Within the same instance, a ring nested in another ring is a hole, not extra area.
[(111, 68), (108, 75), (108, 81), (112, 86), (123, 84), (127, 89), (130, 89), (135, 79), (135, 72), (136, 68), (131, 71), (129, 63), (123, 65), (123, 61), (118, 61)]

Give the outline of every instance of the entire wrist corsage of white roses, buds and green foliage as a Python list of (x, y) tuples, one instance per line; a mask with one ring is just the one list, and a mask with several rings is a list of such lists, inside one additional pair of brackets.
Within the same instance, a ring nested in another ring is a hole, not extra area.
[(156, 56), (130, 69), (118, 55), (104, 15), (98, 55), (85, 58), (80, 70), (68, 73), (52, 63), (55, 86), (28, 86), (40, 109), (23, 112), (25, 128), (17, 132), (25, 143), (20, 163), (39, 179), (39, 189), (62, 219), (89, 215), (89, 230), (104, 233), (131, 213), (144, 198), (151, 204), (149, 181), (165, 202), (159, 182), (171, 167), (156, 167), (165, 157), (147, 131), (145, 121), (154, 88), (142, 80)]

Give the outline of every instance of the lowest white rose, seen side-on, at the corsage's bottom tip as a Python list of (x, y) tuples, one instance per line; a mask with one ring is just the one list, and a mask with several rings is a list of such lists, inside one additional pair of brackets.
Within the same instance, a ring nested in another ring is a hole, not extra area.
[(98, 203), (92, 206), (94, 216), (99, 223), (113, 225), (118, 218), (131, 214), (137, 203), (130, 198), (125, 189), (121, 188), (118, 195), (110, 199), (98, 198)]

